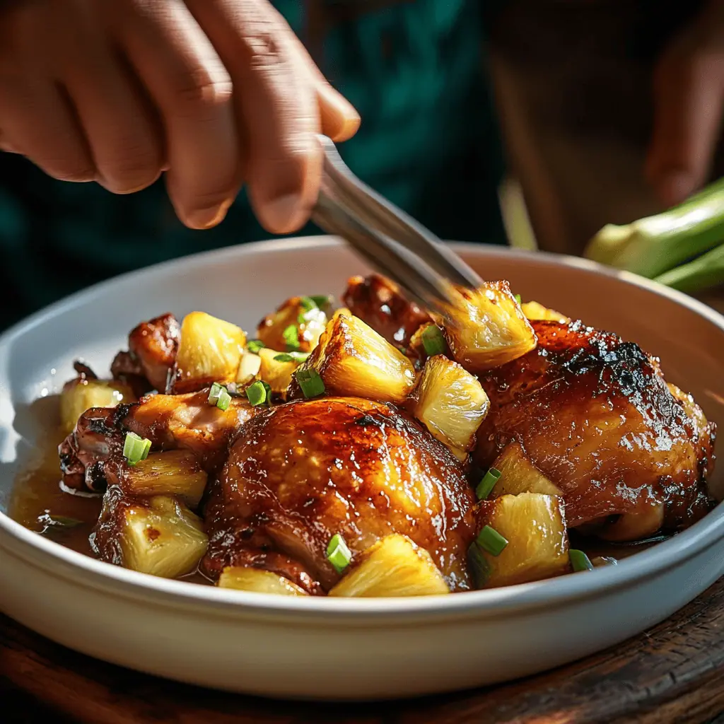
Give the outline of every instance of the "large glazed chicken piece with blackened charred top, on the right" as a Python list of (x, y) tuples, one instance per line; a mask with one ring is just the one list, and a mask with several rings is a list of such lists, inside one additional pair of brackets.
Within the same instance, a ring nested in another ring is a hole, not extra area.
[(518, 442), (562, 490), (568, 525), (594, 523), (610, 539), (675, 531), (702, 517), (715, 426), (691, 397), (615, 334), (581, 322), (532, 324), (537, 348), (481, 376), (491, 411), (476, 463), (487, 468)]

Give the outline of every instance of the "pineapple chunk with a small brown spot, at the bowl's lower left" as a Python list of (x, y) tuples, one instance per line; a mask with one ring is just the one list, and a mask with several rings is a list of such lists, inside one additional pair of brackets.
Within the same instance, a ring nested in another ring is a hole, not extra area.
[(209, 545), (201, 518), (172, 497), (158, 495), (147, 506), (124, 508), (119, 523), (124, 568), (151, 576), (191, 573)]

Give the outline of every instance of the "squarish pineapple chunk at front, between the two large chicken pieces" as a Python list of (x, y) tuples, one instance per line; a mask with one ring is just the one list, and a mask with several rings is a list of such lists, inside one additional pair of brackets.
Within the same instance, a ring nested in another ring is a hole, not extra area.
[(568, 532), (563, 500), (555, 495), (503, 495), (481, 505), (481, 527), (495, 529), (508, 545), (490, 555), (473, 544), (487, 564), (481, 587), (511, 586), (568, 571)]

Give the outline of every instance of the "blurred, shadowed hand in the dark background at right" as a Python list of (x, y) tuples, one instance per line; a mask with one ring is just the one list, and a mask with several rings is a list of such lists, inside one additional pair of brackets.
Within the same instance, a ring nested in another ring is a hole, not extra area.
[(710, 0), (662, 54), (654, 73), (654, 133), (646, 175), (666, 206), (710, 173), (724, 108), (724, 0)]

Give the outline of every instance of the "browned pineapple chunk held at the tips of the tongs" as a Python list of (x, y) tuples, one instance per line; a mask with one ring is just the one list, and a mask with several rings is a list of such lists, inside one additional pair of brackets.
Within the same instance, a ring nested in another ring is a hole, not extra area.
[(479, 290), (458, 290), (459, 303), (437, 321), (455, 361), (478, 374), (535, 348), (533, 327), (508, 282), (486, 282)]

